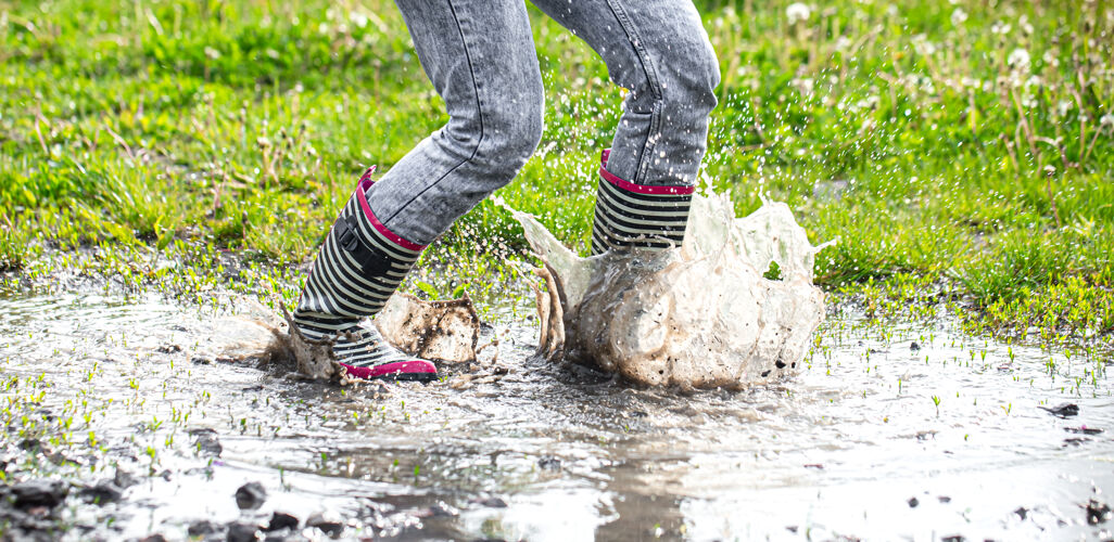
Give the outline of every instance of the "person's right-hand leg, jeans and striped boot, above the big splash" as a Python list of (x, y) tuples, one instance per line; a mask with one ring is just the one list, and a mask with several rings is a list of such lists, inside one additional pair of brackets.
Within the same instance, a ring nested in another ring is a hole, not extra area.
[(584, 39), (612, 80), (631, 90), (600, 169), (593, 253), (680, 242), (720, 83), (692, 1), (531, 1)]

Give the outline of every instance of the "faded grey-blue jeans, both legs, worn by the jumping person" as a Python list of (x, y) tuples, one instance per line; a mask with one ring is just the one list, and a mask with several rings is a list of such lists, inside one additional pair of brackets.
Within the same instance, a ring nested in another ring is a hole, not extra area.
[[(707, 147), (719, 62), (692, 0), (531, 0), (629, 92), (607, 169), (691, 186)], [(545, 96), (524, 0), (395, 0), (449, 122), (368, 190), (387, 228), (428, 245), (510, 183), (541, 139)]]

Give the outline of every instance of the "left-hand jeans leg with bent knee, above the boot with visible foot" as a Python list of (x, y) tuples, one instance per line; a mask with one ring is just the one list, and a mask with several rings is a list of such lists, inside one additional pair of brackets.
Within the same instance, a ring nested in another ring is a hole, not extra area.
[(428, 244), (518, 174), (541, 138), (541, 75), (522, 0), (398, 0), (449, 124), (369, 191), (380, 220)]

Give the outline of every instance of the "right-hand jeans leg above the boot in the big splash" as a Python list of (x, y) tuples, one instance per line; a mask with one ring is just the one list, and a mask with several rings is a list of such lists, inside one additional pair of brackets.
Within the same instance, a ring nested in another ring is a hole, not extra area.
[(692, 185), (707, 146), (720, 65), (691, 0), (531, 0), (585, 40), (628, 90), (607, 169)]

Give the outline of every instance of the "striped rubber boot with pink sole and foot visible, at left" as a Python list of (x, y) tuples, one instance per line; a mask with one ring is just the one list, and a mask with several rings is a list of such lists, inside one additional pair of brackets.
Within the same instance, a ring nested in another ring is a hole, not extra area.
[(368, 168), (317, 253), (293, 321), (306, 338), (333, 339), (333, 353), (349, 376), (437, 378), (432, 362), (391, 346), (368, 318), (387, 304), (426, 248), (403, 239), (375, 218), (365, 190)]

